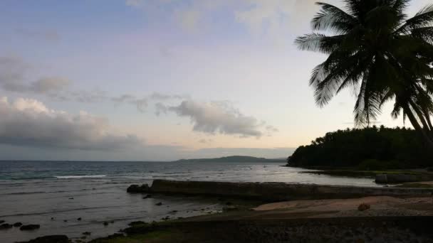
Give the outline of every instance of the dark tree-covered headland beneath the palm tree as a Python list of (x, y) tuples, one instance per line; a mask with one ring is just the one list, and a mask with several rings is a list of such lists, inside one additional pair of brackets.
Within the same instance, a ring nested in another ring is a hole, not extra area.
[(339, 130), (301, 146), (288, 157), (289, 166), (419, 168), (433, 166), (433, 153), (422, 146), (416, 131), (384, 126)]

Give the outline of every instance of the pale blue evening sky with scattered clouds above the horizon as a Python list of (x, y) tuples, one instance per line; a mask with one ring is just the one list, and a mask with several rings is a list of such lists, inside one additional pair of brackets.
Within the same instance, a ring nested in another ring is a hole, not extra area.
[(293, 44), (314, 2), (1, 0), (0, 159), (285, 158), (353, 128), (355, 91), (317, 107), (326, 57)]

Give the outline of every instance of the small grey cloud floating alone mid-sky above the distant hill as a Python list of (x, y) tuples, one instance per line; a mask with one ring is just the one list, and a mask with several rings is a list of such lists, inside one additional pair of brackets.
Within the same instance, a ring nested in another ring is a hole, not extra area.
[(261, 131), (263, 124), (254, 117), (242, 114), (229, 102), (201, 103), (188, 99), (178, 106), (164, 109), (176, 113), (179, 117), (189, 117), (194, 125), (194, 131), (206, 134), (240, 135), (241, 137), (263, 136), (263, 131)]

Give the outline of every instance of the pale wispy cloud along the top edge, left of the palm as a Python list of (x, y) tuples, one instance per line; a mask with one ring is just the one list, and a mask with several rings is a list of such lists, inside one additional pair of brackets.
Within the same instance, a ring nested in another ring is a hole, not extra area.
[[(298, 23), (308, 24), (318, 9), (317, 0), (126, 0), (130, 7), (142, 9), (147, 18), (158, 23), (164, 18), (187, 31), (199, 27), (209, 28), (216, 24), (214, 19), (221, 18), (221, 10), (229, 11), (232, 17), (251, 31), (261, 36), (278, 38), (279, 41)], [(331, 0), (331, 4), (338, 1)]]

